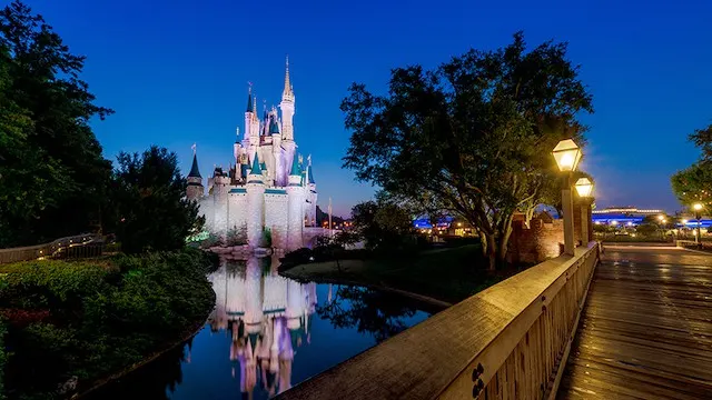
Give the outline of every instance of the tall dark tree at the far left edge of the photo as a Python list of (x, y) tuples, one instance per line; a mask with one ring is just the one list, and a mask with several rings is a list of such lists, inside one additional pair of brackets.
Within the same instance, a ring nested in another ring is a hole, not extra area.
[(111, 164), (89, 120), (96, 106), (75, 56), (41, 16), (0, 11), (0, 246), (97, 228)]

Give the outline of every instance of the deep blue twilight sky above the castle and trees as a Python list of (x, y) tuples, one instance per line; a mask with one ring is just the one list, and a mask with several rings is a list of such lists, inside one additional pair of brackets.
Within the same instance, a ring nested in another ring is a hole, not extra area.
[(340, 169), (348, 86), (383, 92), (390, 68), (435, 67), (471, 47), (504, 46), (517, 30), (531, 46), (568, 41), (582, 66), (596, 109), (584, 119), (582, 167), (596, 178), (599, 207), (679, 209), (669, 177), (698, 157), (688, 133), (712, 123), (709, 0), (28, 3), (88, 57), (82, 78), (116, 110), (93, 123), (107, 157), (156, 143), (187, 172), (197, 142), (204, 178), (233, 159), (248, 81), (260, 103), (279, 103), (288, 53), (295, 139), (313, 154), (319, 203), (330, 196), (335, 213), (373, 194)]

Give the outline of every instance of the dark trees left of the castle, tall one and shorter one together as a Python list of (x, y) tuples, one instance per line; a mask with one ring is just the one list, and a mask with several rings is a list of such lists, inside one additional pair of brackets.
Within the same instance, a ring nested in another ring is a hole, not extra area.
[[(83, 62), (29, 7), (0, 10), (0, 248), (83, 232), (136, 238), (130, 251), (180, 247), (197, 208), (181, 199), (176, 156), (152, 147), (112, 169), (90, 121), (113, 111), (96, 103)], [(171, 229), (155, 234), (147, 214)]]

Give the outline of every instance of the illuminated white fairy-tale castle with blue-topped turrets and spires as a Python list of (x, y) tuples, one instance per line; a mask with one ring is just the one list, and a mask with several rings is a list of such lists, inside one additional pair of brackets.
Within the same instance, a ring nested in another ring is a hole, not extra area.
[(260, 118), (250, 86), (244, 136), (240, 140), (238, 128), (233, 148), (234, 162), (227, 170), (215, 168), (206, 196), (194, 146), (186, 196), (198, 201), (209, 232), (226, 236), (246, 231), (248, 244), (258, 247), (269, 231), (273, 247), (295, 250), (304, 247), (305, 227), (316, 226), (317, 191), (312, 157), (305, 160), (298, 154), (294, 140), (295, 96), (289, 60), (279, 110), (280, 113), (275, 107), (265, 109)]

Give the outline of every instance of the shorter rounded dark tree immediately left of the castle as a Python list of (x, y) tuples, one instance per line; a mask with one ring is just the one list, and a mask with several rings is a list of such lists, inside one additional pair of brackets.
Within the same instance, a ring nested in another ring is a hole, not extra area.
[(140, 157), (121, 152), (112, 184), (117, 238), (125, 252), (175, 250), (200, 231), (205, 218), (185, 197), (176, 153), (152, 146)]

